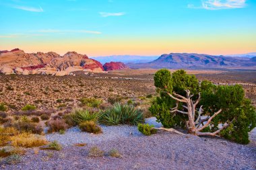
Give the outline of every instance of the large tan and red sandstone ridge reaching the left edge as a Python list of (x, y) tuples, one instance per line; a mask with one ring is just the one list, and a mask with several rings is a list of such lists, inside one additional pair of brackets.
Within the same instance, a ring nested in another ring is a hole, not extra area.
[[(85, 70), (97, 73), (104, 71), (100, 62), (74, 51), (60, 56), (55, 52), (26, 53), (18, 48), (0, 51), (0, 68), (5, 74), (15, 71), (15, 73), (26, 75), (28, 73), (68, 75), (73, 71)], [(57, 73), (57, 71), (65, 71), (65, 73)]]

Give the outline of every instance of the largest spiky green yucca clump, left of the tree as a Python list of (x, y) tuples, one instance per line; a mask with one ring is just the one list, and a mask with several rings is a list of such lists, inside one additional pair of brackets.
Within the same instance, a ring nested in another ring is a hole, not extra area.
[(106, 125), (137, 125), (143, 122), (143, 113), (141, 110), (133, 108), (132, 105), (121, 105), (120, 103), (115, 103), (113, 108), (109, 108), (108, 110), (100, 113), (98, 121)]

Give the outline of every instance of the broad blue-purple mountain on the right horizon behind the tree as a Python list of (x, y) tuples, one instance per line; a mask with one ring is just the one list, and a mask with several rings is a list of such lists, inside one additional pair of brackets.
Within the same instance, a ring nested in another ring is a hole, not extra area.
[(131, 69), (253, 69), (256, 70), (256, 57), (213, 56), (195, 53), (162, 54), (147, 63), (128, 63)]

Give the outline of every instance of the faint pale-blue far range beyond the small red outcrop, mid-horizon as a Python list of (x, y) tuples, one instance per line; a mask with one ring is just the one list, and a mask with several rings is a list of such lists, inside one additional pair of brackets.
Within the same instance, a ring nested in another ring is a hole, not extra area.
[(98, 60), (104, 65), (106, 62), (133, 62), (133, 63), (145, 63), (150, 62), (158, 58), (158, 56), (137, 56), (137, 55), (113, 55), (113, 56), (94, 56), (91, 57), (94, 60)]

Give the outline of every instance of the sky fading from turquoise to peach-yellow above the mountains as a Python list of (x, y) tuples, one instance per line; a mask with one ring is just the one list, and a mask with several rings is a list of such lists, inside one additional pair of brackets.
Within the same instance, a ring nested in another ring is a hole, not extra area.
[(0, 0), (0, 50), (256, 52), (255, 0)]

